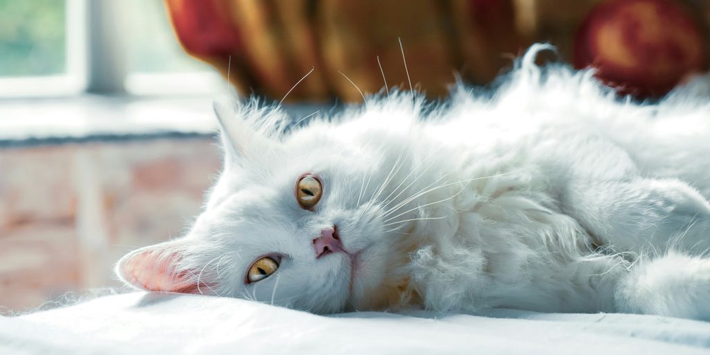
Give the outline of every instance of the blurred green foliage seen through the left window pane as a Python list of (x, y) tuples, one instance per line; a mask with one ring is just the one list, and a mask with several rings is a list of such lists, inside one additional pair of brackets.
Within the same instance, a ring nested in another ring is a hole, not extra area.
[(65, 1), (0, 0), (0, 76), (65, 72)]

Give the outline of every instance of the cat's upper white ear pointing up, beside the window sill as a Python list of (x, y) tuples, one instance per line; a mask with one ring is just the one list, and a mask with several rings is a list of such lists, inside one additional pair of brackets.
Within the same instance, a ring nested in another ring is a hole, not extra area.
[(248, 112), (237, 109), (238, 105), (234, 102), (222, 99), (215, 101), (212, 107), (219, 121), (224, 158), (228, 165), (273, 145), (268, 138), (255, 131), (245, 117), (241, 117)]

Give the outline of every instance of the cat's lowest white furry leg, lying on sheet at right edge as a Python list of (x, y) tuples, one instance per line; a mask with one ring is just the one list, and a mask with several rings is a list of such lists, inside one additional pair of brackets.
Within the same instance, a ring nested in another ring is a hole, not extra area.
[(710, 320), (710, 258), (640, 259), (616, 286), (620, 312)]

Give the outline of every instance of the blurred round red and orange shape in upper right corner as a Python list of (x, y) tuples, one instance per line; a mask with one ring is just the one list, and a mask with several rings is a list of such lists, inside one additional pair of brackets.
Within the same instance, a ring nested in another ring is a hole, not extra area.
[(706, 28), (673, 0), (611, 0), (589, 13), (574, 43), (574, 66), (623, 94), (660, 97), (708, 68)]

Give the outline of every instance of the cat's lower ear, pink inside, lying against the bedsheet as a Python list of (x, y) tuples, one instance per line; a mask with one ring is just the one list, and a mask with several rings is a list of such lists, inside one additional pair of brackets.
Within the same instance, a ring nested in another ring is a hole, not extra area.
[(181, 241), (146, 246), (126, 254), (116, 264), (116, 275), (127, 285), (147, 291), (204, 293), (210, 286), (200, 280), (200, 270), (183, 263)]

